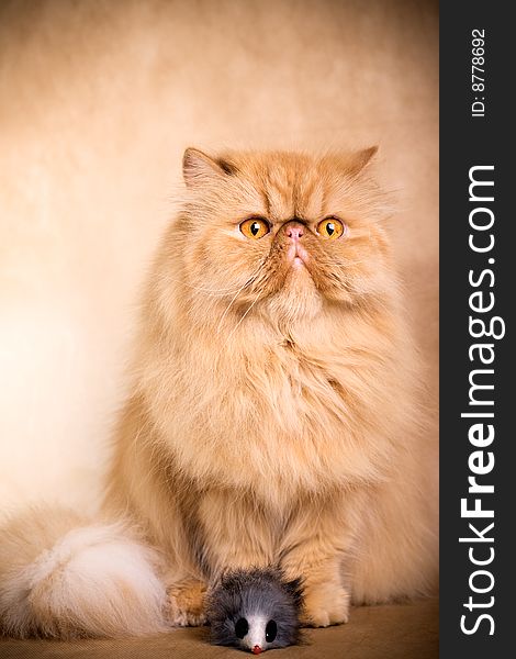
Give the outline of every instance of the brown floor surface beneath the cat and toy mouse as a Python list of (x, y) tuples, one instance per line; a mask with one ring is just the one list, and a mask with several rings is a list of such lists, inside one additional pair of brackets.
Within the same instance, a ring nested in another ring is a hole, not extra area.
[[(437, 659), (436, 600), (416, 604), (363, 606), (347, 625), (309, 629), (303, 645), (267, 657), (289, 659)], [(0, 659), (222, 659), (245, 657), (240, 650), (207, 645), (207, 628), (179, 629), (143, 639), (0, 640)], [(249, 655), (248, 655), (249, 656)]]

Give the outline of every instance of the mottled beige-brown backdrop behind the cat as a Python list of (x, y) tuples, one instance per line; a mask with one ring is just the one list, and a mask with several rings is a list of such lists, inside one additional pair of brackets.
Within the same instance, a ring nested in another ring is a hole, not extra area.
[(188, 145), (381, 146), (437, 376), (437, 3), (0, 2), (0, 502), (92, 506)]

